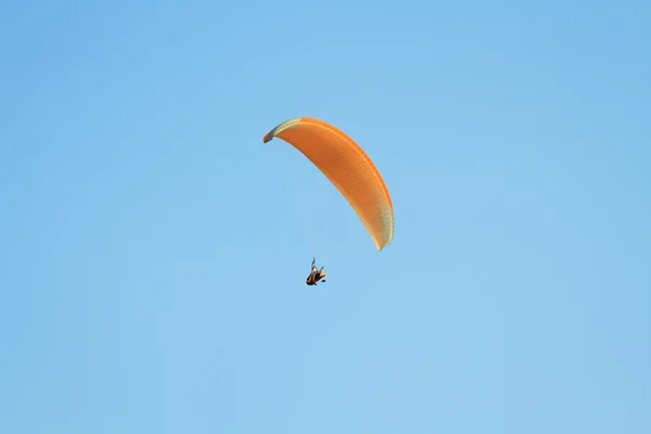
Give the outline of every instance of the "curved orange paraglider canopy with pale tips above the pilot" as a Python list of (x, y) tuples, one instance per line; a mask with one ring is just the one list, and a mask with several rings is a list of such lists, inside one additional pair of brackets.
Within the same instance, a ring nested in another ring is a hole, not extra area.
[(297, 117), (267, 135), (265, 143), (280, 138), (301, 151), (332, 182), (355, 209), (378, 251), (394, 235), (394, 209), (380, 171), (346, 133), (322, 120)]

